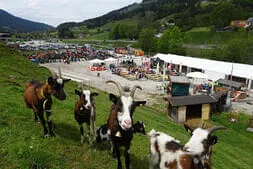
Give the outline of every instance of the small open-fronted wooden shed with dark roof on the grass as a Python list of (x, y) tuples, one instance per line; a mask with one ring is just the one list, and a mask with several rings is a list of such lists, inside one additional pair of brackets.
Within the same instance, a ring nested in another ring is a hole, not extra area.
[(190, 119), (208, 120), (216, 102), (211, 95), (171, 97), (168, 100), (168, 117), (178, 123)]

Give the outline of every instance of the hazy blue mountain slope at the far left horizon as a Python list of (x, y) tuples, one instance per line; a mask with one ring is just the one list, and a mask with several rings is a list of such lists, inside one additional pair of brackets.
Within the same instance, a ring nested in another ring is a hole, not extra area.
[(0, 32), (34, 32), (52, 28), (53, 26), (16, 17), (0, 9)]

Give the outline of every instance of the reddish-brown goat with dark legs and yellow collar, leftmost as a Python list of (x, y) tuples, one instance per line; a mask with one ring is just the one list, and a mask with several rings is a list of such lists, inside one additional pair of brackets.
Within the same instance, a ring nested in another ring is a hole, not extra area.
[[(32, 108), (34, 112), (34, 120), (38, 121), (38, 116), (44, 128), (44, 136), (55, 136), (53, 131), (53, 123), (51, 120), (51, 106), (52, 97), (55, 96), (59, 100), (65, 100), (66, 94), (64, 92), (64, 83), (70, 79), (62, 79), (60, 69), (59, 76), (52, 72), (52, 76), (47, 79), (47, 82), (41, 83), (39, 81), (30, 81), (25, 84), (26, 90), (24, 93), (24, 100), (28, 108)], [(47, 124), (44, 119), (44, 111), (47, 116)]]

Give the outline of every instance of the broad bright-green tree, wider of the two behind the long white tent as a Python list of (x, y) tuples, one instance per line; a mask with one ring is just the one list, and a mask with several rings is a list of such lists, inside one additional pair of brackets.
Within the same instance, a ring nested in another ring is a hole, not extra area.
[(158, 41), (158, 51), (161, 53), (185, 54), (183, 48), (184, 34), (177, 26), (165, 31)]

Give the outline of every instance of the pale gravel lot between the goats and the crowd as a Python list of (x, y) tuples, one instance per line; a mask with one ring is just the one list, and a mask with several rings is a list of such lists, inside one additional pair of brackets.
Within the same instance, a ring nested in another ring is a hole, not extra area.
[(82, 62), (74, 62), (71, 64), (64, 63), (48, 63), (42, 64), (41, 66), (45, 66), (50, 70), (54, 70), (58, 72), (58, 68), (61, 67), (62, 75), (66, 78), (71, 78), (72, 80), (78, 82), (84, 82), (86, 85), (90, 85), (102, 91), (111, 92), (114, 94), (118, 94), (117, 90), (113, 85), (106, 84), (107, 80), (114, 80), (119, 82), (122, 86), (127, 86), (132, 88), (134, 85), (140, 85), (142, 87), (142, 91), (136, 90), (136, 98), (138, 100), (146, 100), (148, 104), (153, 104), (155, 102), (154, 95), (158, 95), (160, 97), (164, 96), (164, 91), (161, 88), (162, 82), (155, 82), (152, 80), (134, 80), (130, 81), (121, 76), (112, 74), (111, 71), (100, 71), (100, 76), (97, 76), (97, 71), (90, 71), (89, 63), (86, 61)]

